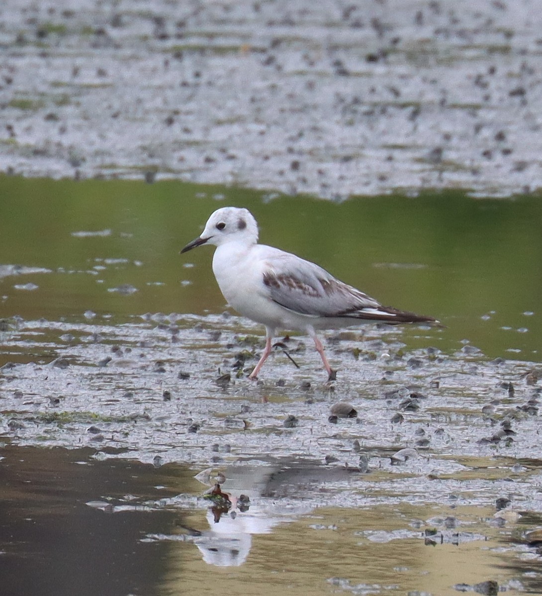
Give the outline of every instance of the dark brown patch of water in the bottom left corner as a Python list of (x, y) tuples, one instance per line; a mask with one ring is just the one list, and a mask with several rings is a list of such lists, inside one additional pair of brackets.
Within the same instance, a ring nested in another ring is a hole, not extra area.
[[(5, 596), (159, 594), (156, 578), (164, 573), (167, 545), (149, 548), (141, 537), (169, 531), (181, 514), (104, 514), (85, 503), (107, 496), (116, 504), (128, 492), (156, 499), (190, 480), (183, 470), (173, 477), (137, 462), (98, 462), (90, 455), (88, 449), (2, 449)], [(153, 483), (170, 486), (159, 491)]]

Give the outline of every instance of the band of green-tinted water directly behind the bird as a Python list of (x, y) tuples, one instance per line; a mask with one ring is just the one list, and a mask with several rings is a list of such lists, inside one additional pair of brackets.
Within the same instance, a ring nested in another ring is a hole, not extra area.
[(1, 317), (220, 313), (212, 249), (178, 251), (214, 209), (232, 204), (254, 212), (263, 243), (318, 262), (384, 304), (436, 316), (447, 329), (429, 341), (440, 349), (466, 339), (491, 357), (539, 359), (542, 204), (534, 197), (450, 191), (333, 204), (179, 182), (5, 176), (0, 194), (0, 265), (47, 269), (0, 277)]

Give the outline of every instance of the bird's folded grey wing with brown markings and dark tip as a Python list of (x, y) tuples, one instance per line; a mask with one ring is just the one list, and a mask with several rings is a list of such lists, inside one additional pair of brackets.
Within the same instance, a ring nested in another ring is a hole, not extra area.
[(377, 300), (336, 280), (315, 263), (280, 252), (266, 259), (263, 271), (273, 302), (302, 315), (371, 321), (430, 321), (429, 317), (382, 306)]

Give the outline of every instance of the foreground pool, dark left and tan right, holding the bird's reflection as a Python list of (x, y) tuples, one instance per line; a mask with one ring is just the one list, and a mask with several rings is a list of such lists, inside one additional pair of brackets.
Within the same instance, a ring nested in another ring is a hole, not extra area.
[[(452, 499), (313, 509), (287, 495), (314, 475), (268, 473), (260, 482), (273, 498), (216, 523), (196, 505), (201, 485), (186, 467), (93, 456), (2, 448), (3, 595), (454, 594), (459, 580), (495, 578), (509, 594), (540, 593), (537, 563), (491, 522), (491, 508)], [(247, 468), (245, 486), (254, 474)], [(322, 476), (321, 489), (338, 474)]]

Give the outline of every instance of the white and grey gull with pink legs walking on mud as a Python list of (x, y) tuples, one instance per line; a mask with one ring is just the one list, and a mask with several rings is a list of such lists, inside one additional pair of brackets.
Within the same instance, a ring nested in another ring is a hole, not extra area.
[(244, 207), (217, 209), (201, 235), (180, 253), (203, 244), (216, 247), (213, 273), (226, 301), (239, 314), (266, 328), (266, 345), (249, 375), (251, 380), (258, 378), (279, 329), (310, 336), (328, 380), (332, 381), (337, 379), (337, 370), (329, 365), (316, 330), (367, 322), (438, 322), (431, 316), (383, 306), (361, 290), (337, 280), (316, 263), (258, 244), (258, 224)]

